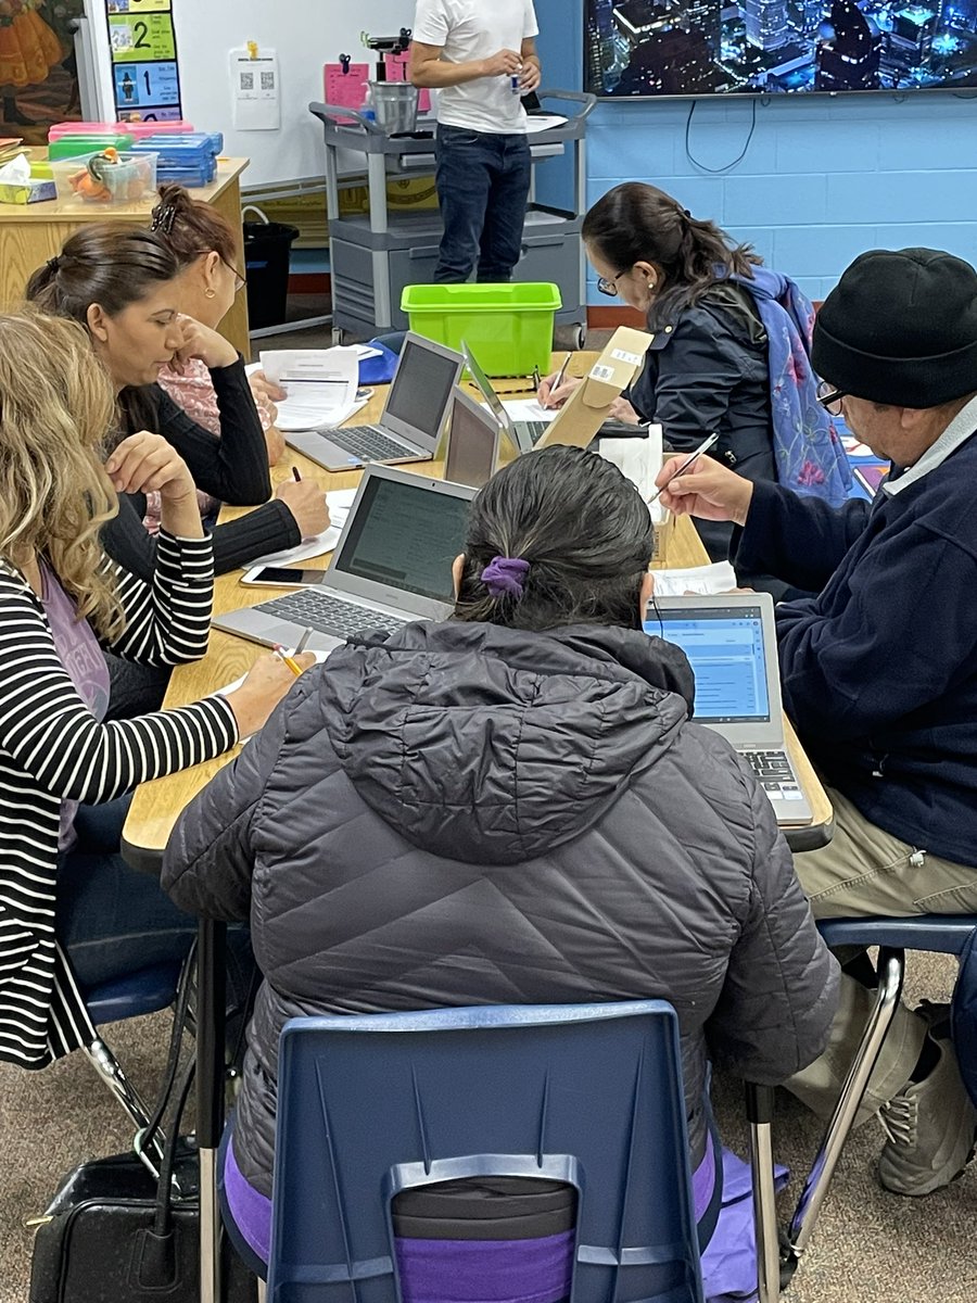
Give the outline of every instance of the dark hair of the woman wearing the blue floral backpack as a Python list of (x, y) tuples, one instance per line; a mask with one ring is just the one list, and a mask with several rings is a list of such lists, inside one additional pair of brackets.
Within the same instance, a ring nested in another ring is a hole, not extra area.
[(584, 218), (582, 238), (615, 272), (636, 262), (660, 267), (663, 284), (647, 314), (650, 330), (697, 302), (718, 280), (752, 276), (761, 258), (736, 245), (715, 222), (700, 222), (664, 190), (625, 181), (598, 199)]

